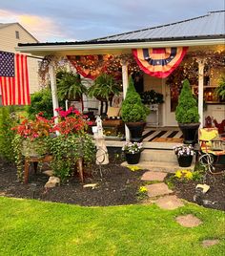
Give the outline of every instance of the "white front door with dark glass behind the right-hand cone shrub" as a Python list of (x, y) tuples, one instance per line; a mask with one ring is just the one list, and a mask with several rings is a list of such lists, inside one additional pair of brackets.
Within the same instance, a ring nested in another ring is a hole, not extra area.
[(179, 90), (175, 86), (171, 87), (166, 85), (166, 98), (165, 98), (165, 125), (178, 126), (175, 120), (175, 108), (178, 104)]

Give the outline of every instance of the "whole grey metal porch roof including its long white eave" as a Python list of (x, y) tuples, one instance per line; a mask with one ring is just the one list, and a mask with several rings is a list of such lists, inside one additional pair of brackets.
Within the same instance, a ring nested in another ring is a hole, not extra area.
[[(209, 41), (212, 41), (211, 43)], [(134, 32), (125, 32), (87, 41), (19, 43), (18, 51), (72, 51), (94, 49), (121, 49), (137, 47), (193, 46), (224, 44), (225, 11), (210, 11), (195, 17), (167, 25)], [(138, 46), (137, 46), (138, 45)], [(161, 46), (163, 45), (163, 46)], [(28, 47), (28, 48), (27, 48)], [(37, 53), (35, 52), (35, 53)]]

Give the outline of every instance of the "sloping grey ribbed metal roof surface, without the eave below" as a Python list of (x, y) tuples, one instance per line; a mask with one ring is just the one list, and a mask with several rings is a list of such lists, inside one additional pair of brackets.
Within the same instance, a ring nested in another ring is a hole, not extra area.
[(149, 29), (92, 39), (92, 42), (148, 41), (177, 38), (221, 37), (225, 35), (225, 11), (210, 11), (195, 17)]

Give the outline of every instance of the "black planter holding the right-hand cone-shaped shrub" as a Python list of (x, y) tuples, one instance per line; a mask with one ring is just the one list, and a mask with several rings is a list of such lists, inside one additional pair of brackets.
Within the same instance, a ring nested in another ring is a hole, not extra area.
[(197, 131), (200, 123), (179, 123), (179, 128), (183, 134), (184, 144), (197, 143)]

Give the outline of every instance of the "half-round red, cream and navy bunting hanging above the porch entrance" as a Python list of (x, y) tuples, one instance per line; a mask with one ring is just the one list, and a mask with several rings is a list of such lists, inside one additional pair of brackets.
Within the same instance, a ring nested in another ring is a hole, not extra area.
[(146, 74), (164, 78), (178, 67), (187, 50), (188, 47), (133, 49), (133, 56)]

